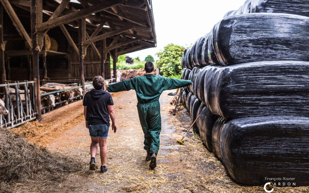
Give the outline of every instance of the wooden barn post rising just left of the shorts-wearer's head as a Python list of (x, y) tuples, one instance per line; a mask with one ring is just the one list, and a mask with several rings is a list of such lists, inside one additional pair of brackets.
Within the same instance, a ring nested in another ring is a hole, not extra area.
[(79, 74), (83, 84), (83, 96), (85, 96), (84, 40), (86, 40), (86, 19), (83, 18), (78, 20)]

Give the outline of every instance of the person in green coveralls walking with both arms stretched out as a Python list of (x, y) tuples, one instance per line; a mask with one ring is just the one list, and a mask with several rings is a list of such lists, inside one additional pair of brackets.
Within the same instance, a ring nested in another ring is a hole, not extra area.
[(171, 90), (188, 86), (190, 80), (178, 80), (155, 76), (154, 64), (147, 61), (146, 74), (130, 80), (124, 80), (108, 86), (108, 92), (135, 90), (138, 99), (137, 110), (140, 123), (144, 132), (144, 149), (147, 152), (146, 161), (150, 160), (149, 167), (156, 167), (156, 157), (160, 146), (161, 115), (159, 97), (164, 90)]

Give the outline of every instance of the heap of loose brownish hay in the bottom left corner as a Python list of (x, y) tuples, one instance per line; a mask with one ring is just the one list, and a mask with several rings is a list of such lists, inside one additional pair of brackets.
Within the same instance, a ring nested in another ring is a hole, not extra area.
[(0, 192), (51, 191), (50, 185), (80, 169), (72, 158), (38, 148), (6, 128), (0, 132)]

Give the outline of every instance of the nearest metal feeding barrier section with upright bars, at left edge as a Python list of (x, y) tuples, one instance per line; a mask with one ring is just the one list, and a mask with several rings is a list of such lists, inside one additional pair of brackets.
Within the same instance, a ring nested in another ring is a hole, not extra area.
[(0, 115), (2, 127), (14, 128), (36, 119), (34, 90), (36, 82), (25, 81), (0, 84), (7, 115)]

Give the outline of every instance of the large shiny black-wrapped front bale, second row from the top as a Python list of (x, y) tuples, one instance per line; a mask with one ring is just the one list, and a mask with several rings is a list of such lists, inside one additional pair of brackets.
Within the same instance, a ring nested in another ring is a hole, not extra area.
[(221, 65), (255, 61), (309, 61), (309, 18), (250, 13), (223, 18), (213, 28), (214, 52)]

